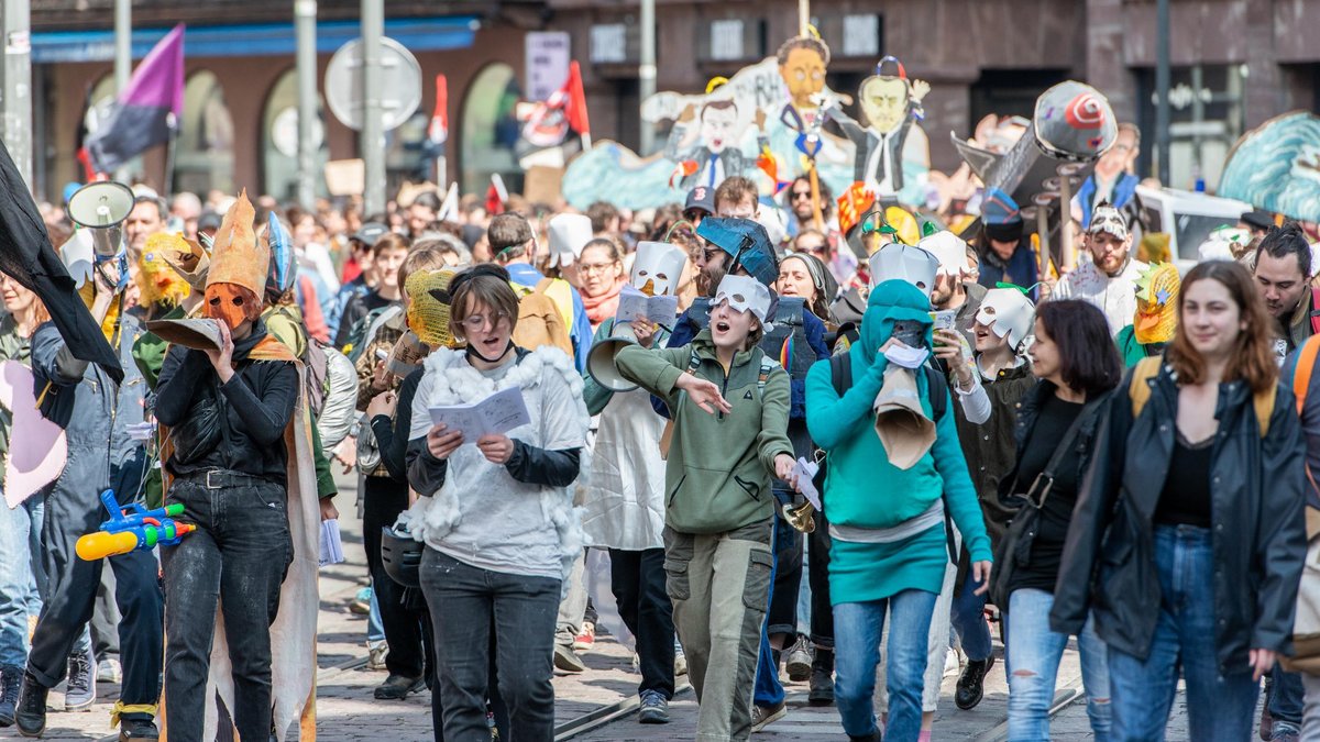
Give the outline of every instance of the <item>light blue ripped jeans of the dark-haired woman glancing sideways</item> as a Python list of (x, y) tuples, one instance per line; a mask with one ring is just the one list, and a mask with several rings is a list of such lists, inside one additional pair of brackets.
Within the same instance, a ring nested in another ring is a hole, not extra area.
[[(1007, 655), (1008, 673), (1008, 739), (1048, 741), (1049, 704), (1055, 700), (1059, 660), (1068, 647), (1068, 635), (1049, 630), (1049, 609), (1055, 597), (1044, 590), (1020, 589), (1008, 595), (1012, 636)], [(1081, 655), (1081, 680), (1086, 689), (1086, 716), (1096, 739), (1104, 742), (1110, 733), (1109, 669), (1105, 643), (1096, 635), (1088, 618), (1077, 636)]]

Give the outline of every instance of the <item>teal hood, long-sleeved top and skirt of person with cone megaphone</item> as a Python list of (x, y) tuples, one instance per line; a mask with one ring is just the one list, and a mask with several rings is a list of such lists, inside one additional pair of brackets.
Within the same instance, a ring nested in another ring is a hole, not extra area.
[[(894, 528), (925, 512), (942, 495), (972, 560), (989, 561), (990, 539), (958, 445), (952, 399), (945, 399), (946, 412), (936, 421), (935, 444), (911, 469), (890, 463), (875, 434), (873, 404), (888, 364), (876, 351), (899, 320), (921, 322), (929, 346), (929, 300), (912, 284), (884, 281), (871, 292), (861, 338), (849, 349), (851, 388), (842, 397), (834, 392), (828, 360), (807, 374), (807, 428), (829, 463), (825, 512), (840, 525)], [(917, 374), (916, 382), (921, 407), (931, 416), (927, 375)], [(909, 589), (939, 593), (949, 560), (942, 522), (894, 543), (833, 539), (830, 549), (830, 601), (836, 605), (883, 599)]]

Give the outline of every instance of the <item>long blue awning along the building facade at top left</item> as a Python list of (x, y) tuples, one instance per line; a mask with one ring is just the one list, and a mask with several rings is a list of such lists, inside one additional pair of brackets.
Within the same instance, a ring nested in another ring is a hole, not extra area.
[[(480, 21), (475, 16), (385, 20), (385, 36), (411, 51), (467, 49)], [(317, 53), (333, 54), (358, 38), (358, 21), (317, 22)], [(140, 59), (170, 29), (135, 29), (133, 59)], [(293, 22), (189, 26), (183, 53), (197, 57), (286, 57), (294, 53)], [(115, 58), (114, 30), (57, 30), (32, 34), (32, 61), (108, 62)]]

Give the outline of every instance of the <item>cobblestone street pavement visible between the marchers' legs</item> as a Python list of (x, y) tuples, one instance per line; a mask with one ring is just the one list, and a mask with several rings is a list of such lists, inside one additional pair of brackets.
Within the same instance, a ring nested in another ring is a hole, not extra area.
[[(366, 556), (362, 549), (362, 522), (354, 510), (352, 482), (341, 481), (342, 492), (337, 500), (342, 514), (345, 556), (347, 561), (321, 570), (321, 618), (318, 644), (318, 697), (317, 737), (326, 742), (421, 742), (432, 739), (430, 696), (413, 694), (404, 701), (378, 701), (372, 689), (385, 679), (384, 671), (368, 671), (366, 661), (366, 618), (348, 611), (348, 599), (366, 584)], [(609, 599), (607, 597), (605, 599)], [(623, 742), (640, 739), (692, 739), (696, 735), (697, 704), (690, 689), (681, 691), (671, 704), (672, 724), (643, 726), (634, 713), (591, 727), (583, 717), (599, 717), (611, 708), (632, 701), (639, 676), (632, 671), (631, 652), (609, 636), (599, 636), (593, 651), (583, 654), (587, 672), (577, 676), (561, 675), (554, 679), (556, 722), (561, 730), (573, 726), (578, 734), (573, 739), (583, 742)], [(685, 679), (680, 679), (686, 688)], [(956, 675), (945, 676), (940, 710), (936, 712), (935, 739), (1003, 739), (1007, 718), (1007, 684), (1003, 664), (997, 663), (986, 679), (986, 694), (979, 706), (970, 712), (953, 705)], [(1081, 685), (1077, 655), (1069, 650), (1059, 671), (1061, 693)], [(843, 729), (834, 706), (807, 705), (807, 685), (787, 684), (788, 714), (767, 726), (755, 739), (841, 739)], [(49, 717), (44, 739), (51, 742), (82, 739), (115, 739), (110, 727), (110, 709), (117, 687), (102, 685), (96, 705), (90, 712), (55, 712)], [(1060, 696), (1064, 697), (1064, 696)], [(53, 693), (53, 709), (62, 708), (62, 696)], [(1187, 739), (1184, 697), (1179, 694), (1170, 739)], [(589, 718), (590, 718), (589, 717)], [(582, 731), (582, 727), (586, 730)], [(290, 739), (297, 739), (296, 730)], [(0, 730), (0, 739), (16, 738), (17, 731)], [(564, 738), (561, 735), (561, 738)], [(1090, 739), (1085, 704), (1077, 698), (1067, 704), (1053, 718), (1052, 739)], [(1243, 741), (1245, 742), (1245, 741)]]

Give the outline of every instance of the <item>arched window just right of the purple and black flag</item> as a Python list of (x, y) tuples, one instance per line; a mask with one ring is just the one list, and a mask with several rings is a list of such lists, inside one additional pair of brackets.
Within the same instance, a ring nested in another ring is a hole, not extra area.
[(183, 84), (183, 120), (174, 144), (173, 193), (234, 193), (234, 118), (214, 73)]

